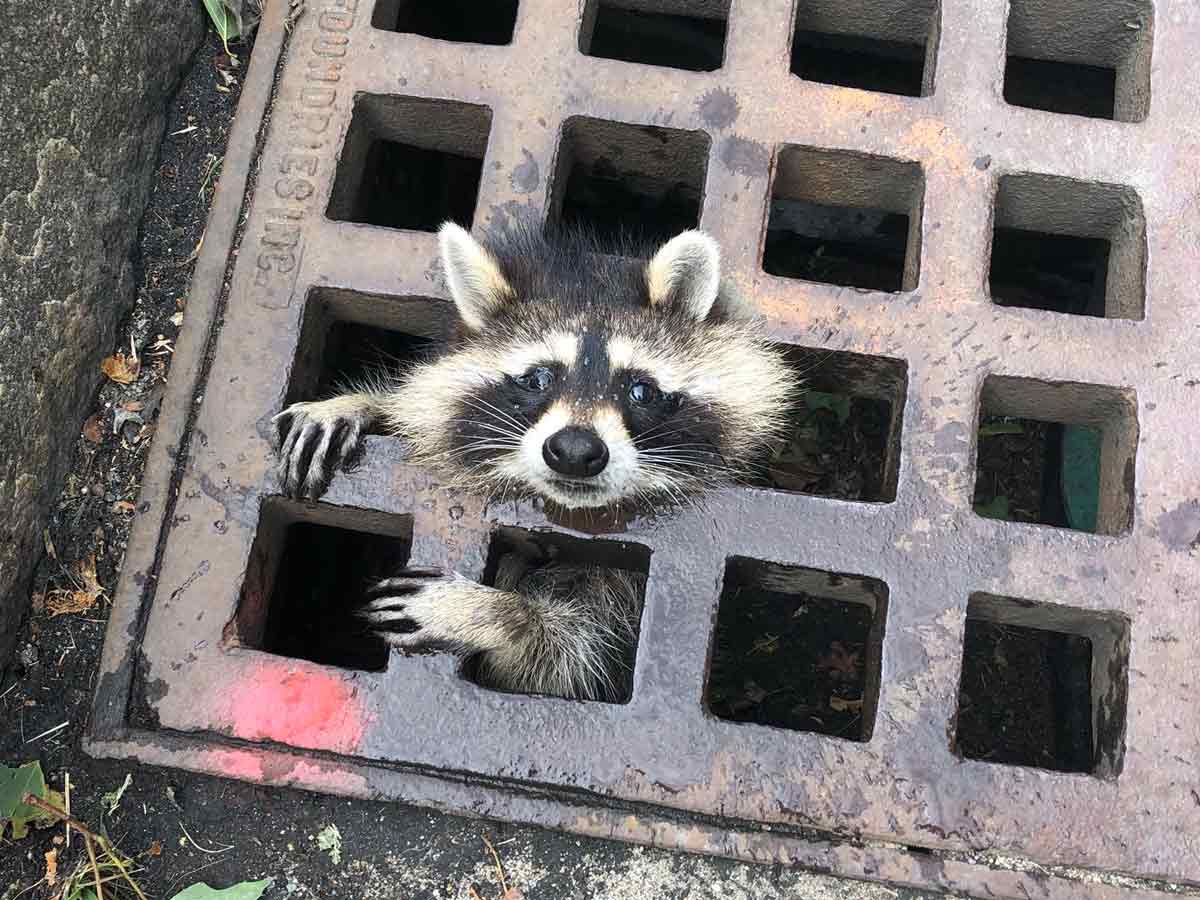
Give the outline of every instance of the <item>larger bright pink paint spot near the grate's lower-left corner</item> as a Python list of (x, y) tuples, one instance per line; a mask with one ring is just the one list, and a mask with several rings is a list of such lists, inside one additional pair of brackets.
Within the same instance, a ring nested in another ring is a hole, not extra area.
[(337, 673), (262, 665), (229, 698), (233, 733), (246, 740), (353, 754), (366, 730), (358, 689)]

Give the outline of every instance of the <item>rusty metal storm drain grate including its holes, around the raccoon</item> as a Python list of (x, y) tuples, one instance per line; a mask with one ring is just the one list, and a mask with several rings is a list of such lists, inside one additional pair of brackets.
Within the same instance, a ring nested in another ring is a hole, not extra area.
[[(986, 895), (1200, 883), (1200, 7), (286, 6), (94, 752)], [(420, 354), (433, 229), (517, 215), (720, 240), (810, 388), (760, 481), (586, 530), (372, 437), (280, 497), (270, 418)], [(643, 576), (624, 702), (348, 630), (372, 574), (505, 553)]]

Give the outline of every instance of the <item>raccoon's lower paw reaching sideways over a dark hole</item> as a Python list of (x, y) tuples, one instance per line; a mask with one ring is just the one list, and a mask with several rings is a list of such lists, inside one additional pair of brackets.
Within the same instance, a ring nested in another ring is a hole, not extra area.
[(410, 568), (367, 592), (360, 616), (392, 647), (406, 650), (486, 649), (488, 610), (500, 592), (440, 569)]

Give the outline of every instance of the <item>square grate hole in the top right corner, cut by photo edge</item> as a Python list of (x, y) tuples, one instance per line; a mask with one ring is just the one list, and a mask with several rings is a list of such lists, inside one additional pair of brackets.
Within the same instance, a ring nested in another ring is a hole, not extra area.
[(1150, 0), (1012, 0), (1004, 100), (1140, 122), (1150, 109)]

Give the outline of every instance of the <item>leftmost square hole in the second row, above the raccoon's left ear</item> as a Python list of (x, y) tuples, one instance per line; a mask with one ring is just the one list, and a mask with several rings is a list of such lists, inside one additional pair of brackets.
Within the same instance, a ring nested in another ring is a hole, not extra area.
[(360, 96), (337, 161), (328, 216), (384, 228), (470, 228), (492, 127), (487, 107)]

